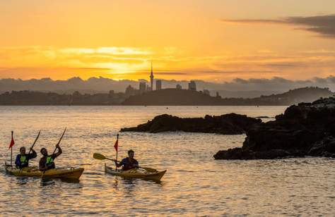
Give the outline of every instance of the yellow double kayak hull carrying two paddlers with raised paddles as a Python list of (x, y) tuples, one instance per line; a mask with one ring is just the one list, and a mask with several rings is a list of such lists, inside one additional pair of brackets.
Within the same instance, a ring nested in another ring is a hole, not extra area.
[(56, 168), (43, 172), (39, 171), (37, 167), (25, 167), (18, 169), (11, 166), (5, 166), (6, 173), (15, 176), (26, 177), (43, 177), (43, 178), (64, 178), (71, 180), (78, 180), (83, 174), (84, 168)]

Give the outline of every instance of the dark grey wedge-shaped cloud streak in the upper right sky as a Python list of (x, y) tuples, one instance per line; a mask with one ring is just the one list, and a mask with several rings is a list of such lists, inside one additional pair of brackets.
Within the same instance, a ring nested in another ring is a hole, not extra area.
[(322, 37), (335, 38), (335, 14), (294, 16), (281, 19), (221, 19), (224, 23), (295, 25), (299, 30), (316, 32)]

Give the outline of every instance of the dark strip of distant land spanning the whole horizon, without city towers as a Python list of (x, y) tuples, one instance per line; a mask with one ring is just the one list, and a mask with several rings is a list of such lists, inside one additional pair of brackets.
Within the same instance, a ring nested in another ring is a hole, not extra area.
[(126, 92), (100, 94), (57, 94), (52, 92), (12, 91), (0, 94), (0, 105), (125, 105), (125, 106), (288, 106), (302, 101), (332, 97), (328, 88), (303, 87), (283, 94), (271, 94), (257, 98), (211, 97), (208, 92), (192, 89), (158, 89), (136, 92), (128, 87)]

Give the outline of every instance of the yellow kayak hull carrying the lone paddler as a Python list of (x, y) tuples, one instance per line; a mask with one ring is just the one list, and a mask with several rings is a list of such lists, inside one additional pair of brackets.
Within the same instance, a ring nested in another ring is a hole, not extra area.
[(129, 171), (115, 170), (105, 164), (105, 173), (109, 173), (112, 175), (121, 176), (123, 178), (141, 178), (144, 180), (153, 180), (159, 182), (163, 177), (166, 171), (157, 171), (155, 173), (148, 172), (144, 169), (131, 169)]

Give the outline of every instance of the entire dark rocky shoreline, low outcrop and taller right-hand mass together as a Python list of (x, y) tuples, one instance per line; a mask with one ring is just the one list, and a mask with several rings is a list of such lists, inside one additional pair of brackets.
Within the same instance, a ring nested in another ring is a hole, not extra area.
[[(267, 117), (266, 117), (267, 118)], [(121, 132), (204, 132), (247, 137), (242, 147), (218, 151), (214, 159), (250, 160), (304, 156), (335, 158), (335, 98), (288, 107), (275, 120), (262, 122), (236, 113), (204, 118), (167, 114)]]

